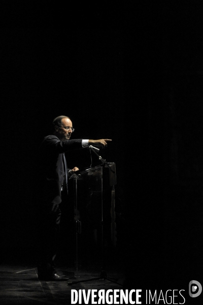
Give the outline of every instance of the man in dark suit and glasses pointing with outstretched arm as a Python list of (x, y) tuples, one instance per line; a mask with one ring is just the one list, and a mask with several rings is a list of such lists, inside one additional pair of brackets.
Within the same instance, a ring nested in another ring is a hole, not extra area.
[(38, 278), (45, 281), (62, 280), (55, 269), (62, 193), (67, 192), (68, 178), (78, 170), (67, 168), (65, 151), (82, 149), (91, 144), (107, 145), (110, 139), (70, 140), (74, 132), (69, 117), (60, 115), (53, 120), (54, 132), (46, 136), (40, 147), (39, 207), (40, 243)]

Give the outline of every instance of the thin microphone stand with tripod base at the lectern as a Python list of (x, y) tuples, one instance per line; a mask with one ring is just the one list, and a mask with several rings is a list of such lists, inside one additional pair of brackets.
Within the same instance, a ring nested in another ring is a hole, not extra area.
[[(96, 147), (93, 147), (92, 145), (88, 146), (90, 148), (90, 150), (92, 150), (94, 152), (94, 154), (98, 157), (98, 159), (101, 161), (101, 163), (103, 164), (103, 166), (107, 165), (109, 167), (109, 169), (111, 170), (111, 172), (115, 173), (114, 170), (112, 170), (112, 168), (109, 166), (109, 164), (106, 162), (105, 159), (101, 158), (101, 156), (99, 156), (95, 150), (99, 150)], [(94, 280), (108, 280), (110, 282), (113, 282), (117, 285), (123, 286), (122, 284), (118, 283), (118, 279), (113, 279), (113, 278), (109, 278), (107, 276), (107, 272), (105, 271), (104, 268), (104, 232), (103, 232), (103, 201), (101, 202), (101, 256), (102, 256), (102, 261), (103, 261), (103, 265), (101, 267), (101, 272), (100, 272), (100, 276), (96, 277), (96, 278), (91, 278), (91, 279), (87, 279), (87, 280), (82, 280), (82, 281), (77, 281), (77, 282), (68, 282), (68, 285), (73, 285), (73, 284), (78, 284), (78, 283), (82, 283), (82, 282), (89, 282), (89, 281), (94, 281)], [(78, 270), (77, 270), (78, 271)]]

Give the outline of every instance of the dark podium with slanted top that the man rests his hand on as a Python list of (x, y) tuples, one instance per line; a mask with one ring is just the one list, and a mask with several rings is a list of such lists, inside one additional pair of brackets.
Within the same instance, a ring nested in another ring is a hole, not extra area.
[(76, 277), (83, 263), (101, 265), (100, 278), (105, 272), (105, 249), (114, 247), (116, 165), (107, 162), (93, 168), (76, 171), (74, 206), (76, 225)]

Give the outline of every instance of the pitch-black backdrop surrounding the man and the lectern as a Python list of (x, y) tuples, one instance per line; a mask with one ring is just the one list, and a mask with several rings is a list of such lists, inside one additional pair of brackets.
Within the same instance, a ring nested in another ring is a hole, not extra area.
[[(53, 118), (67, 115), (72, 137), (112, 139), (99, 154), (116, 163), (126, 285), (200, 281), (201, 11), (171, 2), (2, 7), (3, 256), (35, 248), (35, 155)], [(68, 163), (89, 166), (89, 151)]]

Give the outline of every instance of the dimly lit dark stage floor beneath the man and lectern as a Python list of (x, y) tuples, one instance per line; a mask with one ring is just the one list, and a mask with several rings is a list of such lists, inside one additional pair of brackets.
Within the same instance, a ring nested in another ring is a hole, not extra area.
[(61, 282), (39, 281), (37, 266), (32, 261), (27, 255), (14, 257), (12, 251), (3, 259), (0, 265), (1, 305), (71, 304), (73, 289), (85, 289), (86, 292), (88, 289), (122, 289), (125, 280), (123, 264), (118, 258), (108, 259), (106, 278), (98, 261), (70, 266), (65, 255), (61, 255), (58, 273), (69, 278)]

